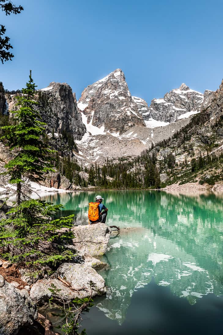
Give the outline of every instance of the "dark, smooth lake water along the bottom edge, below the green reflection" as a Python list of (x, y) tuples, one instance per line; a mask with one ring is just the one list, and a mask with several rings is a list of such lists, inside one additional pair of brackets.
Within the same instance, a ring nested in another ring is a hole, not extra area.
[(84, 314), (87, 335), (222, 335), (223, 297), (208, 294), (197, 304), (172, 294), (152, 280), (134, 292), (122, 326), (92, 307)]

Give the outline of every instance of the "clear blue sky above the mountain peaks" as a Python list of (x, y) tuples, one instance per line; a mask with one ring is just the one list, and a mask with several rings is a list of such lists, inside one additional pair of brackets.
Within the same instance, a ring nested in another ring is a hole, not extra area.
[(0, 64), (5, 88), (67, 82), (80, 97), (116, 68), (132, 95), (151, 99), (184, 82), (204, 92), (223, 78), (223, 1), (12, 0), (24, 11), (0, 13), (15, 57)]

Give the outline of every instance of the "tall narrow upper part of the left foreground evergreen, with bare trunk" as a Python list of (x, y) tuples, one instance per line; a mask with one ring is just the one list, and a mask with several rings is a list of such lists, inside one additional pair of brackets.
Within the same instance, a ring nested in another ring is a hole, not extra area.
[(12, 111), (13, 122), (3, 127), (7, 144), (11, 150), (16, 149), (15, 157), (6, 165), (7, 173), (11, 176), (10, 183), (16, 184), (16, 205), (21, 203), (22, 183), (28, 178), (39, 182), (43, 174), (51, 168), (51, 154), (47, 143), (42, 139), (45, 123), (38, 120), (39, 112), (34, 108), (33, 100), (35, 84), (31, 77), (22, 89), (22, 95), (17, 96), (17, 111)]

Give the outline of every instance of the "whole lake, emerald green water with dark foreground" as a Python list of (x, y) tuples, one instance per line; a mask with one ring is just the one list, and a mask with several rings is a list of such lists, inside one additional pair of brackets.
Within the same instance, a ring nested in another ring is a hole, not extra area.
[[(223, 197), (99, 192), (111, 235), (99, 273), (108, 287), (83, 316), (87, 335), (223, 334)], [(49, 195), (87, 224), (95, 192)], [(131, 227), (133, 229), (124, 229)]]

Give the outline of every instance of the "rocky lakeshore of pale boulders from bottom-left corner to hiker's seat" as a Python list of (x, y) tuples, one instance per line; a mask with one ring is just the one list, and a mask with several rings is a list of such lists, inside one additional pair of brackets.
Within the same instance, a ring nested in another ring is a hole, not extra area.
[[(95, 269), (108, 265), (95, 257), (105, 253), (111, 229), (98, 223), (75, 226), (72, 231), (76, 238), (68, 247), (77, 251), (76, 262), (60, 265), (52, 275), (34, 277), (28, 269), (18, 269), (14, 264), (0, 261), (0, 335), (21, 334), (22, 329), (26, 329), (28, 334), (28, 329), (38, 328), (38, 324), (40, 328), (45, 327), (43, 324), (47, 321), (38, 315), (38, 309), (48, 305), (52, 284), (60, 289), (66, 302), (76, 297), (106, 293), (105, 281)], [(90, 281), (94, 283), (93, 288)], [(43, 334), (54, 334), (47, 324), (48, 330)], [(39, 331), (37, 334), (42, 333)]]

